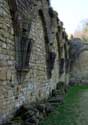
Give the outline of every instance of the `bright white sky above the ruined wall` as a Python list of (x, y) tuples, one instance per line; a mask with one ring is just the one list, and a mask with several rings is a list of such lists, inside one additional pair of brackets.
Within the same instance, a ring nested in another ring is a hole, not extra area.
[(51, 0), (68, 33), (74, 33), (80, 21), (88, 19), (88, 0)]

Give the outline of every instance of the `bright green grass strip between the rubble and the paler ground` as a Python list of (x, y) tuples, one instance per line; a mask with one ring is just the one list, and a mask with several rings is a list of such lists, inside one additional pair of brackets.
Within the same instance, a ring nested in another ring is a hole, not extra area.
[(85, 90), (88, 90), (88, 86), (71, 87), (64, 98), (64, 104), (59, 105), (40, 125), (80, 125), (76, 119), (80, 114), (80, 95)]

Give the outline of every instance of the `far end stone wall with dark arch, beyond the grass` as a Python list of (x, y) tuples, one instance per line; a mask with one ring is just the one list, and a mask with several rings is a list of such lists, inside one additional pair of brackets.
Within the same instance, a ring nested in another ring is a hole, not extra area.
[(88, 84), (88, 43), (79, 38), (70, 41), (70, 81)]

